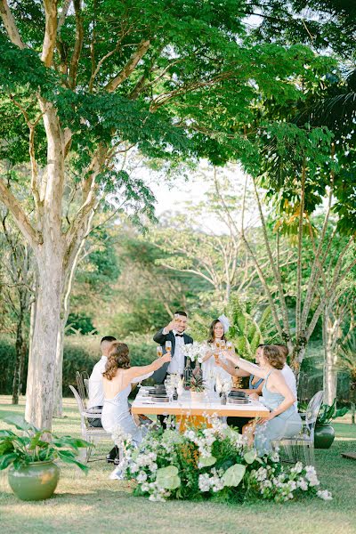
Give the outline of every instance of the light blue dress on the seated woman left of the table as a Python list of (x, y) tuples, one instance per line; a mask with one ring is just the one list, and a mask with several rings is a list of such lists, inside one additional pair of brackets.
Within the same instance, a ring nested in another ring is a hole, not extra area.
[(117, 427), (121, 427), (122, 432), (131, 435), (134, 444), (138, 445), (147, 433), (145, 427), (139, 427), (134, 422), (134, 417), (130, 413), (128, 396), (131, 392), (129, 384), (122, 392), (118, 392), (113, 399), (105, 399), (101, 412), (101, 425), (108, 433), (113, 433)]

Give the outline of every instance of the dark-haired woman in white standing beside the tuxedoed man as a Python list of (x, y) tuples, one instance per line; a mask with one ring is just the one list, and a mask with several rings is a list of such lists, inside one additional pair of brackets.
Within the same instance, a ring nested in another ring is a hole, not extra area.
[(214, 354), (221, 354), (221, 348), (219, 342), (226, 342), (225, 331), (223, 323), (219, 319), (213, 320), (209, 328), (209, 339), (207, 344), (210, 345), (210, 349), (206, 351), (206, 355), (201, 364), (201, 369), (203, 372), (203, 378), (206, 382), (215, 380), (217, 375), (220, 375), (223, 381), (231, 380), (232, 373), (234, 371), (231, 363), (221, 357), (221, 362), (223, 365), (217, 363), (217, 358), (214, 358)]

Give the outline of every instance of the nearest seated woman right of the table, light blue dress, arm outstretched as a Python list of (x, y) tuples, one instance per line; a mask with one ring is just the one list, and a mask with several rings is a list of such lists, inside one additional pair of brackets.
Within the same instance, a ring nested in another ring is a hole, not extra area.
[(235, 366), (263, 378), (263, 403), (271, 410), (255, 426), (255, 449), (260, 456), (271, 452), (271, 441), (292, 438), (302, 428), (302, 419), (295, 409), (295, 395), (288, 388), (280, 372), (284, 360), (278, 348), (264, 345), (260, 351), (260, 367), (239, 356), (225, 352), (225, 357)]

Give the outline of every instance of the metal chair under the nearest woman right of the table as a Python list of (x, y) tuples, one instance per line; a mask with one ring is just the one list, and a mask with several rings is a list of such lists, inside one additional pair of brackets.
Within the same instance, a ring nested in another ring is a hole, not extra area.
[(281, 438), (273, 441), (273, 446), (279, 447), (282, 461), (292, 463), (302, 461), (305, 465), (315, 465), (314, 428), (323, 396), (324, 392), (320, 391), (312, 397), (305, 412), (302, 430), (295, 438)]

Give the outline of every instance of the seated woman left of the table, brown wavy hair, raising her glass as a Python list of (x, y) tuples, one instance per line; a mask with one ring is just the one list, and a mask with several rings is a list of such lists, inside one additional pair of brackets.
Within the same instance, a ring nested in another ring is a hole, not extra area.
[(130, 413), (127, 398), (131, 392), (131, 384), (142, 379), (148, 373), (161, 368), (166, 361), (170, 361), (166, 353), (150, 365), (130, 367), (129, 349), (125, 343), (115, 342), (109, 349), (108, 361), (103, 376), (104, 405), (101, 412), (101, 425), (108, 433), (113, 433), (117, 426), (123, 433), (131, 435), (134, 443), (142, 441), (144, 429), (137, 426)]

